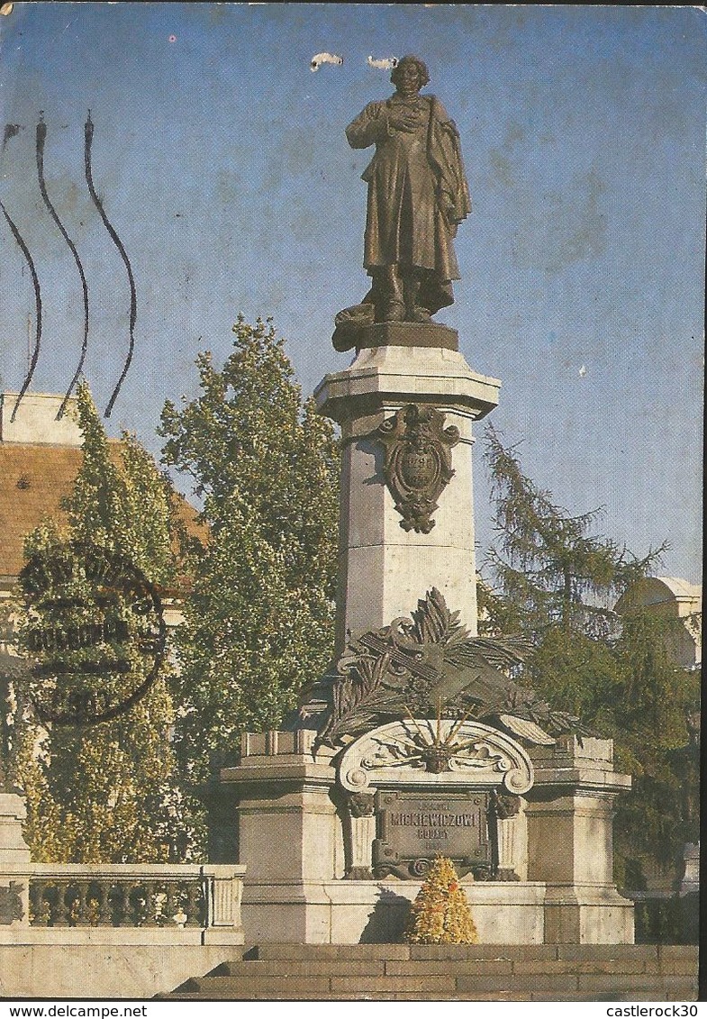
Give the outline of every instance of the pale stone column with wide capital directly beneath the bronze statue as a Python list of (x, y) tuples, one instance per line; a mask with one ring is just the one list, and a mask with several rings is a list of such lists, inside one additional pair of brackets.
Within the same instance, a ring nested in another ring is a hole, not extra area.
[[(456, 333), (444, 326), (384, 323), (362, 333), (354, 363), (327, 375), (315, 392), (320, 412), (341, 425), (343, 441), (337, 649), (347, 631), (409, 615), (432, 587), (476, 633), (472, 422), (496, 406), (500, 383), (471, 370)], [(400, 527), (383, 475), (384, 449), (372, 436), (410, 404), (436, 408), (444, 428), (459, 432), (454, 474), (429, 534)]]

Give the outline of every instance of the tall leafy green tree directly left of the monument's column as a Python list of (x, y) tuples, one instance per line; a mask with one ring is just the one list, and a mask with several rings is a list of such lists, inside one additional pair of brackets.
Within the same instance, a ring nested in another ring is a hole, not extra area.
[(210, 538), (178, 637), (176, 746), (187, 782), (277, 727), (333, 652), (338, 450), (303, 404), (270, 322), (233, 326), (223, 368), (199, 356), (200, 395), (165, 404), (163, 462), (192, 479)]

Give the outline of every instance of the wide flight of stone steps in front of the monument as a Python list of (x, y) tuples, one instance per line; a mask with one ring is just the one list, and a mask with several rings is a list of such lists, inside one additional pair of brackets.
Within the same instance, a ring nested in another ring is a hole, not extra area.
[(170, 1001), (695, 1001), (697, 947), (259, 945)]

